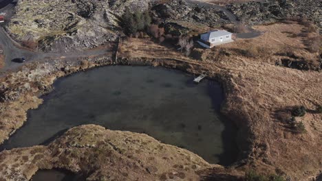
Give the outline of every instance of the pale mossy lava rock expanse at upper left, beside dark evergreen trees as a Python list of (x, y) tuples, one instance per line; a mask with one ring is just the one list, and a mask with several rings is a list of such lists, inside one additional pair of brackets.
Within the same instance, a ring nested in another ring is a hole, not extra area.
[(19, 1), (7, 29), (16, 40), (41, 51), (79, 51), (116, 40), (125, 8), (146, 1)]

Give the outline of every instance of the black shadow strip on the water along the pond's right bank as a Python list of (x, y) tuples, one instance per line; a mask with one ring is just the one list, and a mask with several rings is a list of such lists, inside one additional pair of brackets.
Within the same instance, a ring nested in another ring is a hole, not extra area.
[[(220, 112), (220, 105), (218, 102), (222, 103), (224, 101), (224, 93), (222, 87), (219, 84), (214, 84), (214, 82), (208, 81), (208, 95), (211, 97), (211, 102), (213, 104), (213, 109), (217, 112), (219, 120), (224, 124), (224, 130), (222, 132), (222, 143), (224, 152), (219, 155), (215, 155), (218, 159), (219, 165), (228, 166), (237, 160), (237, 143), (235, 138), (237, 136), (237, 127), (234, 125), (233, 121), (229, 120)], [(221, 95), (221, 96), (219, 96)]]

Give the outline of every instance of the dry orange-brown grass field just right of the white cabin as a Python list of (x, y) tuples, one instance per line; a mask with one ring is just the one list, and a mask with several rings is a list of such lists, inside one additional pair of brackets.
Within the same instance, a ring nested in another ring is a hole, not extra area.
[[(305, 60), (317, 60), (317, 53), (308, 51), (308, 46), (305, 41), (310, 40), (311, 37), (317, 36), (311, 33), (310, 36), (300, 36), (303, 32), (303, 25), (299, 23), (275, 23), (272, 25), (258, 25), (254, 27), (264, 34), (252, 39), (239, 39), (234, 43), (221, 45), (226, 49), (233, 49), (246, 52), (248, 57), (257, 57), (255, 61), (264, 61), (275, 64), (280, 58), (279, 54), (291, 52), (295, 55), (304, 58)], [(297, 36), (294, 36), (297, 35)], [(253, 55), (253, 56), (251, 56)], [(258, 58), (259, 57), (259, 58)]]

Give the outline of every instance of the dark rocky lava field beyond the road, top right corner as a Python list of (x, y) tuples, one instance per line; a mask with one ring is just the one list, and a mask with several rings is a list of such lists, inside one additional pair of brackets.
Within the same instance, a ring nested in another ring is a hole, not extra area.
[(303, 16), (313, 21), (321, 29), (322, 2), (316, 0), (294, 1), (251, 1), (227, 5), (240, 21), (251, 24), (275, 22), (287, 17)]

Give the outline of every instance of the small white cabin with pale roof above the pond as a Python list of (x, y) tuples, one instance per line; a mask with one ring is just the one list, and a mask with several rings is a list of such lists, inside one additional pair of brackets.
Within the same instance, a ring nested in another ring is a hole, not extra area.
[(200, 39), (197, 42), (202, 45), (202, 47), (209, 49), (217, 45), (233, 42), (234, 40), (231, 37), (232, 35), (232, 33), (225, 30), (213, 30), (211, 32), (200, 34)]

